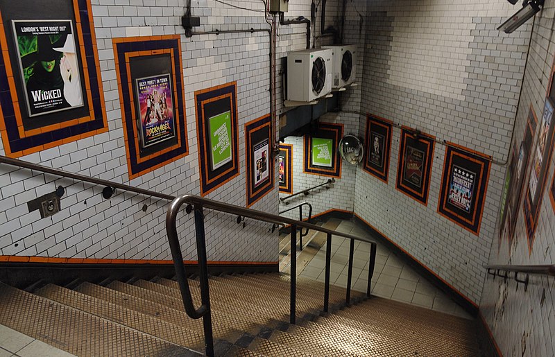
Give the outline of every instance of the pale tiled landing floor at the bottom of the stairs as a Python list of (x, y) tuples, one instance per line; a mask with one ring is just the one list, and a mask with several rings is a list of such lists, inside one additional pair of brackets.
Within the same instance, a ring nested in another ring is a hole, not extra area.
[[(339, 232), (364, 236), (364, 230), (357, 223), (342, 220), (337, 229)], [(309, 235), (310, 236), (310, 235)], [(305, 238), (306, 239), (306, 238)], [(309, 239), (303, 245), (309, 244)], [(336, 286), (347, 286), (347, 272), (349, 261), (350, 241), (338, 236), (332, 238), (332, 263), (330, 281)], [(325, 251), (321, 250), (311, 259), (300, 272), (301, 277), (324, 281), (325, 279)], [(365, 292), (368, 286), (368, 261), (370, 258), (370, 244), (355, 242), (355, 254), (352, 269), (352, 289)], [(409, 265), (395, 256), (385, 245), (377, 245), (376, 262), (372, 279), (372, 294), (393, 299), (407, 304), (413, 304), (432, 310), (449, 313), (472, 319), (466, 311), (456, 304), (445, 293), (418, 275)]]

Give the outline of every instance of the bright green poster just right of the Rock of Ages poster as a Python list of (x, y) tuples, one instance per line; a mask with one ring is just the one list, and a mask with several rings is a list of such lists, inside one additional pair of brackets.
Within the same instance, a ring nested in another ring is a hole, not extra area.
[(225, 112), (208, 119), (210, 126), (210, 148), (212, 149), (212, 171), (232, 160), (231, 153), (231, 112)]

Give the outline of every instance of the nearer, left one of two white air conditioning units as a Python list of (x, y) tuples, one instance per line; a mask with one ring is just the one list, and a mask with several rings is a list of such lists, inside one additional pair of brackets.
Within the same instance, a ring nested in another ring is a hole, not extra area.
[(287, 99), (312, 102), (332, 92), (330, 49), (307, 49), (287, 54)]

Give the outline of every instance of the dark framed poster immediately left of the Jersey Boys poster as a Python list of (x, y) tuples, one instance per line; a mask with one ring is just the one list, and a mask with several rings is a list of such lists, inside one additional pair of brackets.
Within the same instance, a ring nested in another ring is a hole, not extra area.
[(427, 206), (434, 137), (402, 128), (396, 188)]

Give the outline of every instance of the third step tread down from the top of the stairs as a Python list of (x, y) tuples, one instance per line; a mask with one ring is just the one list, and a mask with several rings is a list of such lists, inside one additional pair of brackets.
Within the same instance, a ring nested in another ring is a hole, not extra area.
[[(125, 285), (127, 286), (128, 284)], [(203, 321), (200, 319), (191, 319), (185, 311), (178, 311), (176, 308), (169, 308), (162, 304), (156, 304), (155, 302), (143, 299), (142, 297), (133, 296), (125, 291), (121, 292), (89, 283), (83, 283), (75, 290), (103, 301), (112, 302), (113, 304), (130, 308), (131, 310), (144, 313), (146, 315), (155, 316), (160, 320), (185, 327), (186, 329), (196, 331), (197, 333), (203, 333)], [(243, 331), (232, 329), (229, 326), (224, 326), (222, 324), (214, 324), (213, 330), (214, 338), (225, 340), (230, 343), (234, 343), (243, 335)]]

